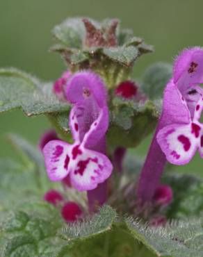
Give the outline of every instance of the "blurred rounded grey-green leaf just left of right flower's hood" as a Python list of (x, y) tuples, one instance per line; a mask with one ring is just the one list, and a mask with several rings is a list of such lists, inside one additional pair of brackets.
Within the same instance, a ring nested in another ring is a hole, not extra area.
[(163, 89), (172, 76), (172, 65), (168, 63), (155, 63), (143, 75), (143, 92), (149, 99), (163, 97)]

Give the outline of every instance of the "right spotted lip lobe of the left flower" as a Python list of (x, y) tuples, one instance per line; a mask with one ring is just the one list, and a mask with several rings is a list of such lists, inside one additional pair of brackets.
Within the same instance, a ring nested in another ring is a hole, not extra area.
[(77, 156), (70, 173), (71, 183), (79, 191), (92, 190), (108, 179), (113, 166), (104, 154), (88, 149), (83, 149), (82, 152)]

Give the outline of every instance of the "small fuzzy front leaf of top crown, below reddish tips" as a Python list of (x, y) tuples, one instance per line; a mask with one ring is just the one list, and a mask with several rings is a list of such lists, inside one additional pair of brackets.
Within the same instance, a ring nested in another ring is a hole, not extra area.
[(138, 58), (139, 53), (138, 49), (132, 46), (104, 48), (103, 52), (111, 60), (128, 67)]

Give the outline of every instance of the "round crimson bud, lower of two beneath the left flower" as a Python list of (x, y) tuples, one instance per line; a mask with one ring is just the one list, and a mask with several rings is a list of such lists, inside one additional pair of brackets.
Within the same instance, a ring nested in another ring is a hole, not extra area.
[(67, 201), (61, 209), (61, 215), (66, 222), (76, 222), (82, 215), (82, 210), (74, 201)]

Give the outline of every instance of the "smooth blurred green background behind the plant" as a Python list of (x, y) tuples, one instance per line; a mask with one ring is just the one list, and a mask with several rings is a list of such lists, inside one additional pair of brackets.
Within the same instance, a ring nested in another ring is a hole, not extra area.
[[(203, 45), (202, 9), (202, 0), (1, 0), (0, 67), (17, 67), (42, 80), (55, 80), (65, 65), (60, 56), (48, 52), (54, 25), (73, 16), (99, 20), (117, 17), (123, 27), (133, 28), (135, 35), (155, 47), (155, 53), (142, 56), (136, 63), (134, 75), (138, 77), (151, 63), (172, 63), (184, 47)], [(0, 157), (15, 157), (3, 139), (5, 133), (19, 133), (36, 143), (48, 127), (43, 116), (28, 118), (19, 110), (1, 115)], [(149, 138), (137, 153), (146, 153)], [(178, 169), (203, 176), (199, 156)]]

